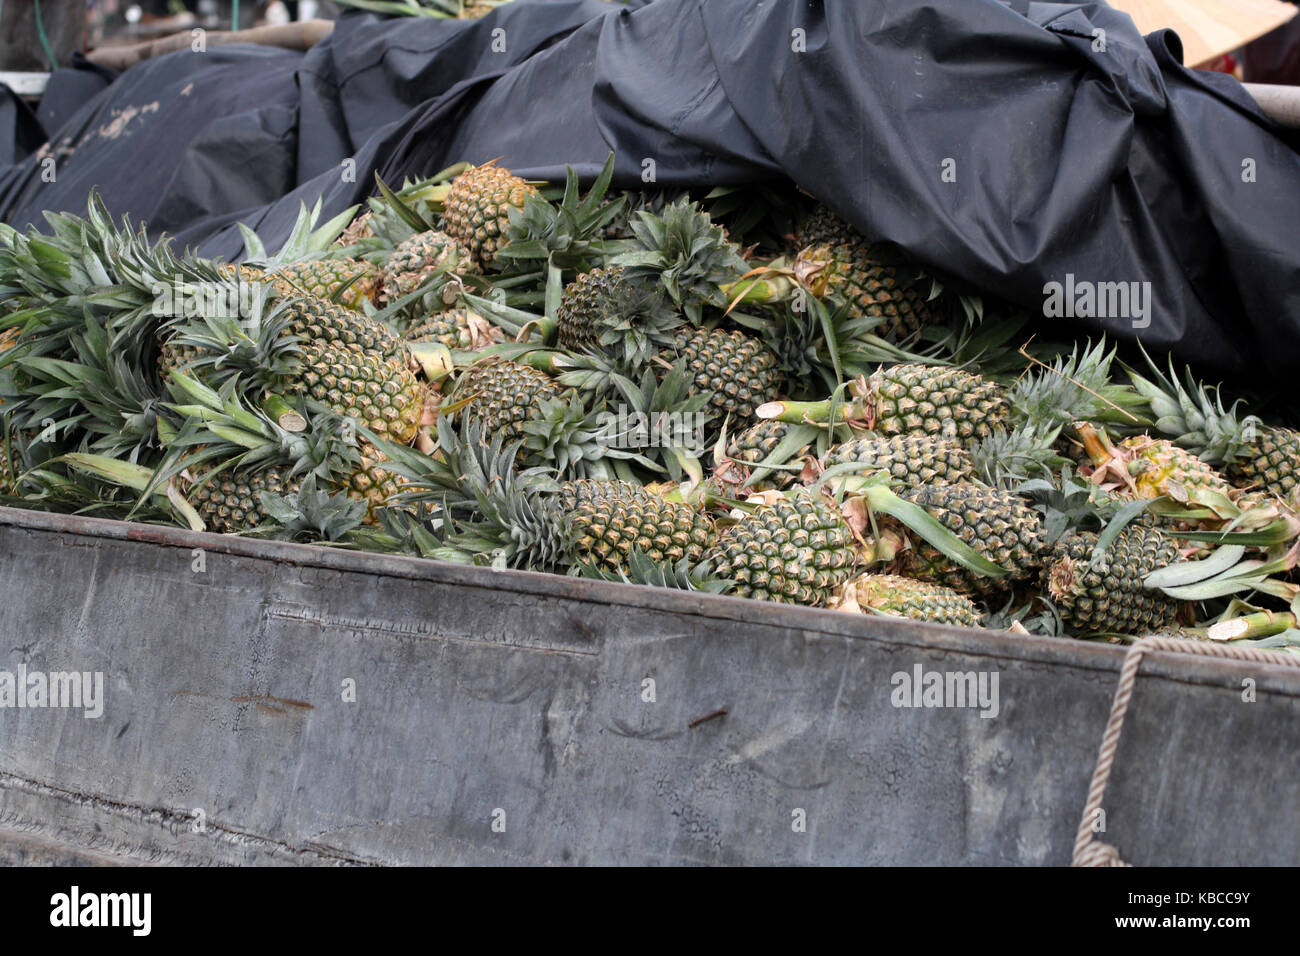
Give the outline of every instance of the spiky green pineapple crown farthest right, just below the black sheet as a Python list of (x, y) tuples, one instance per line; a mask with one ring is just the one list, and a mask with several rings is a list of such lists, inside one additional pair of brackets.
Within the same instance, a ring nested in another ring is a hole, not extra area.
[(1143, 358), (1150, 367), (1153, 380), (1127, 367), (1124, 371), (1156, 418), (1156, 429), (1209, 463), (1239, 458), (1262, 428), (1260, 419), (1254, 415), (1238, 418), (1240, 399), (1225, 407), (1221, 390), (1197, 382), (1191, 368), (1184, 369), (1180, 380), (1173, 358), (1167, 376), (1145, 350)]

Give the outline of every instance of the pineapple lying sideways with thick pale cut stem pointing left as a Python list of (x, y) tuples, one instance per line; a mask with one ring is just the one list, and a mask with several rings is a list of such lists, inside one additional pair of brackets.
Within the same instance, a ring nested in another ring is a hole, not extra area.
[[(831, 401), (768, 402), (760, 419), (824, 423)], [(858, 377), (838, 403), (841, 420), (861, 424), (883, 437), (928, 434), (970, 445), (1002, 428), (1009, 406), (1002, 389), (978, 375), (942, 365), (904, 364)]]

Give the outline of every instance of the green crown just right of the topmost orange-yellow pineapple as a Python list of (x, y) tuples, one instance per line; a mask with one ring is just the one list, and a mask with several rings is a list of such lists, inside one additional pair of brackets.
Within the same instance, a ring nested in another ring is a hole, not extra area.
[(623, 196), (604, 202), (612, 177), (611, 152), (592, 189), (580, 200), (577, 172), (567, 166), (564, 196), (559, 204), (538, 195), (529, 196), (523, 209), (511, 211), (510, 242), (498, 256), (514, 260), (519, 268), (536, 268), (537, 263), (546, 261), (566, 269), (581, 269), (602, 258), (606, 246), (593, 237), (618, 219), (627, 206)]

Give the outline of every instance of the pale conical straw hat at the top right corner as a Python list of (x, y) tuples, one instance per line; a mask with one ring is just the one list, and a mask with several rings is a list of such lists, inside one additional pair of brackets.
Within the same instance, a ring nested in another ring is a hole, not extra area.
[(1110, 0), (1138, 29), (1169, 27), (1183, 42), (1183, 62), (1197, 66), (1275, 30), (1297, 13), (1278, 0)]

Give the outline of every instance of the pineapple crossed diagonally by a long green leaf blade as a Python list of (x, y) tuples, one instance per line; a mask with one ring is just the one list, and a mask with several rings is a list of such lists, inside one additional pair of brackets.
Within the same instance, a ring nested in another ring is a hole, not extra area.
[(1044, 549), (1043, 522), (1020, 496), (958, 481), (923, 485), (901, 492), (900, 497), (928, 511), (980, 557), (1006, 571), (1006, 576), (972, 574), (924, 541), (914, 542), (897, 557), (898, 574), (963, 594), (988, 594), (1024, 581), (1037, 571)]

